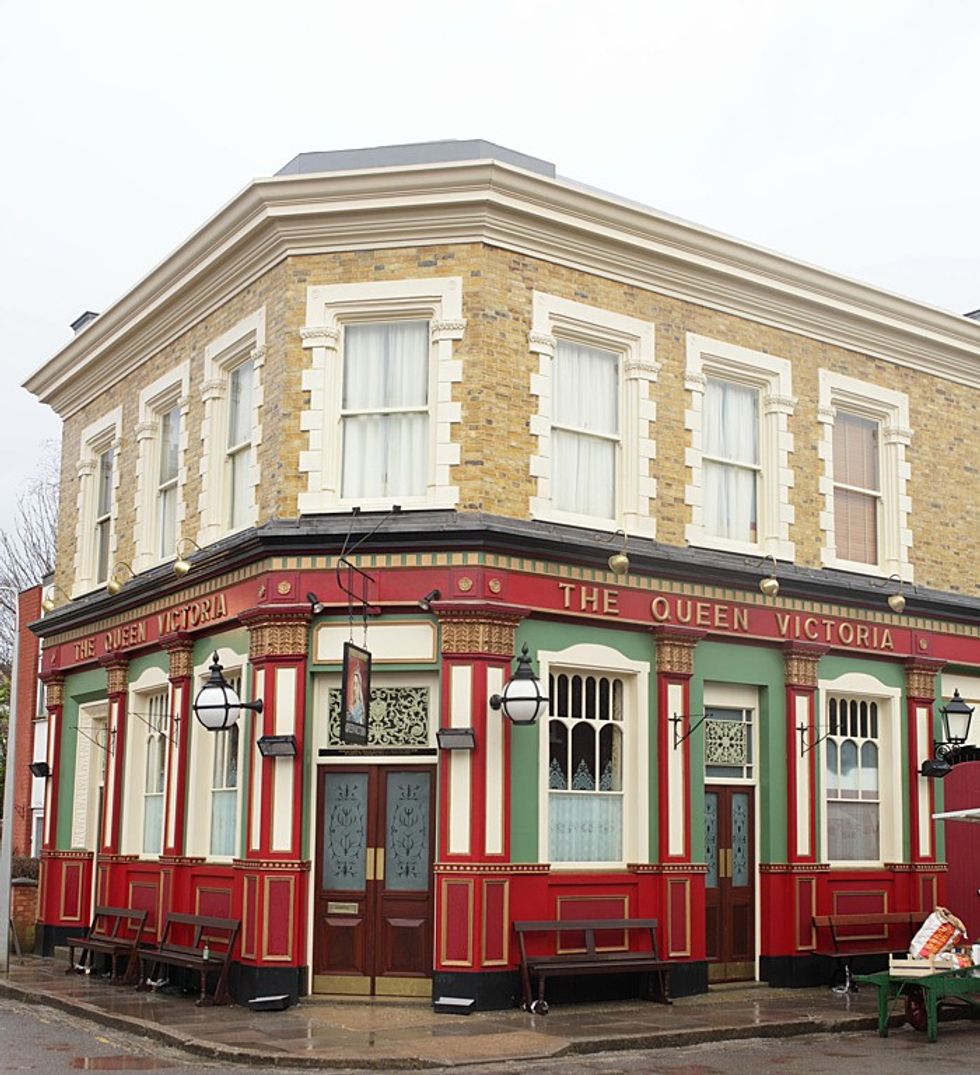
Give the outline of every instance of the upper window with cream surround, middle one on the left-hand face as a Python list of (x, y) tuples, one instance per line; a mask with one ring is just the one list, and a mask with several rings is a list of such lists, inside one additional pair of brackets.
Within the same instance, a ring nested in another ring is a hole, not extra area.
[(145, 571), (176, 553), (184, 518), (188, 364), (140, 392), (133, 569)]

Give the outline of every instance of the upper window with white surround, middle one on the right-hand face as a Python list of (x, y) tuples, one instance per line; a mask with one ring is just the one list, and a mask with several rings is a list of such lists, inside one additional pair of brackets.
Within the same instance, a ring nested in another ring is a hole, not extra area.
[(688, 333), (688, 542), (792, 560), (790, 362)]

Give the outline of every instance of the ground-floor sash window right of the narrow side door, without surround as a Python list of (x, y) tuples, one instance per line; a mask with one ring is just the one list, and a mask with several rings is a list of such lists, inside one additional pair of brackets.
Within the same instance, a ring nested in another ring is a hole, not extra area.
[(880, 857), (879, 750), (878, 703), (830, 698), (824, 798), (832, 861), (873, 862)]

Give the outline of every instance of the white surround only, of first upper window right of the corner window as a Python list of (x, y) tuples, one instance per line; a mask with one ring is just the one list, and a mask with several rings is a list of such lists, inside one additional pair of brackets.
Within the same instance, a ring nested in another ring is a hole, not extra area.
[[(553, 506), (551, 422), (559, 340), (611, 350), (620, 356), (616, 512), (610, 519), (562, 512)], [(537, 373), (531, 374), (531, 395), (538, 400), (537, 414), (531, 416), (531, 432), (537, 438), (537, 454), (531, 457), (531, 476), (537, 479), (537, 494), (531, 498), (531, 516), (655, 538), (657, 520), (651, 515), (651, 502), (657, 497), (657, 479), (650, 476), (650, 460), (657, 458), (653, 438), (657, 404), (650, 398), (650, 385), (657, 381), (660, 366), (654, 358), (653, 325), (535, 291), (528, 342), (538, 356)]]

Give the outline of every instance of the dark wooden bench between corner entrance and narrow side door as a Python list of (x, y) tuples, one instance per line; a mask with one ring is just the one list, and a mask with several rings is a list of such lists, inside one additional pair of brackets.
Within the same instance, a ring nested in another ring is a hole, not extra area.
[[(649, 948), (630, 949), (628, 931), (647, 934)], [(588, 918), (560, 921), (523, 921), (514, 923), (521, 956), (521, 985), (524, 1008), (545, 1015), (545, 983), (559, 975), (629, 974), (647, 976), (646, 995), (662, 1004), (671, 1003), (668, 990), (671, 964), (657, 954), (655, 918)], [(554, 950), (539, 955), (529, 952), (529, 933), (552, 933)], [(537, 978), (537, 998), (531, 990), (531, 979)], [(657, 989), (653, 989), (653, 979)]]

